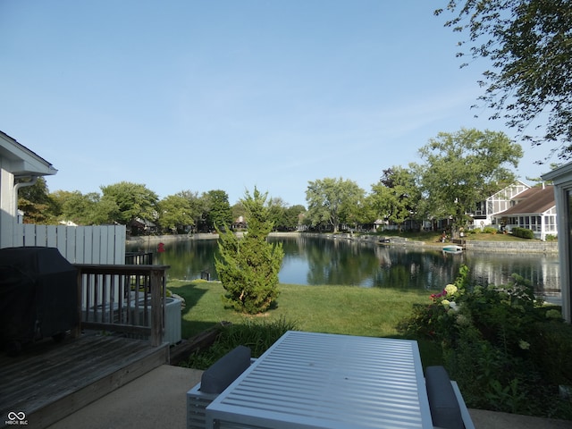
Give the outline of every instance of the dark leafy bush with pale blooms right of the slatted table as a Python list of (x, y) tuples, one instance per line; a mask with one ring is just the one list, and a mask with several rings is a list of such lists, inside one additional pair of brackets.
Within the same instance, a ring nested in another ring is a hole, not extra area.
[[(467, 280), (463, 265), (455, 282), (415, 307), (401, 328), (441, 345), (469, 407), (572, 419), (572, 404), (551, 394), (572, 384), (572, 328), (518, 275), (503, 286), (471, 287)], [(554, 324), (568, 336), (549, 334)]]

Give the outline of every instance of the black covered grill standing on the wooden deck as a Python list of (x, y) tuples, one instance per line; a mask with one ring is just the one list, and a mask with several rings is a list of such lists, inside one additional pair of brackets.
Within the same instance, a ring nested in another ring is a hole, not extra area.
[(26, 343), (78, 324), (77, 271), (57, 248), (0, 249), (0, 341)]

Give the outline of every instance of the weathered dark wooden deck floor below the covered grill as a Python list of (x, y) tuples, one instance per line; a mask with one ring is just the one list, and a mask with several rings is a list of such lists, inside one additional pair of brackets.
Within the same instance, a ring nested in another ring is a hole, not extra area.
[(9, 413), (22, 412), (28, 427), (52, 425), (168, 361), (168, 344), (95, 333), (42, 341), (18, 357), (2, 353), (0, 427), (12, 426)]

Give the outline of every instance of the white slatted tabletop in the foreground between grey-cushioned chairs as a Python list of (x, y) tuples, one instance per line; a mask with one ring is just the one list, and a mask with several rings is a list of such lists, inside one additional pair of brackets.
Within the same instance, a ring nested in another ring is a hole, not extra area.
[(287, 332), (207, 416), (221, 428), (432, 427), (415, 341), (312, 332)]

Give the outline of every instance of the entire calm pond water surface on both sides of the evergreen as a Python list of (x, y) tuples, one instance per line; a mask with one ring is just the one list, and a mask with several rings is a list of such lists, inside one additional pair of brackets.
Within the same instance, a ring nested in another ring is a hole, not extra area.
[[(270, 240), (282, 242), (284, 249), (279, 274), (282, 283), (439, 290), (453, 282), (459, 266), (465, 264), (473, 284), (508, 284), (510, 275), (517, 273), (530, 280), (537, 293), (559, 298), (556, 254), (466, 251), (451, 255), (439, 249), (381, 246), (343, 239), (298, 236)], [(211, 280), (217, 280), (214, 269), (217, 246), (216, 240), (169, 242), (163, 253), (156, 253), (154, 263), (171, 265), (168, 272), (171, 279), (193, 280), (208, 272)], [(127, 250), (141, 249), (128, 246)]]

